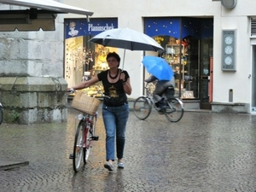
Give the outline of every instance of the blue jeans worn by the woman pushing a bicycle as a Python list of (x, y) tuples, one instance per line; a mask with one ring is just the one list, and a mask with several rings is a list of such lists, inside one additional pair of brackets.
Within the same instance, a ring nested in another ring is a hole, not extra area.
[(106, 160), (114, 160), (114, 139), (116, 137), (117, 158), (122, 159), (125, 148), (125, 127), (129, 117), (128, 104), (119, 107), (102, 105), (102, 116), (106, 130)]

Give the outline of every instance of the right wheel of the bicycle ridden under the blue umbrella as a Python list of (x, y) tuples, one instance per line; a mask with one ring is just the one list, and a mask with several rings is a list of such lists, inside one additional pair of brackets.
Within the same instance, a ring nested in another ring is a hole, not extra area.
[(183, 117), (183, 103), (176, 98), (166, 100), (169, 107), (166, 108), (166, 118), (171, 122), (177, 122)]

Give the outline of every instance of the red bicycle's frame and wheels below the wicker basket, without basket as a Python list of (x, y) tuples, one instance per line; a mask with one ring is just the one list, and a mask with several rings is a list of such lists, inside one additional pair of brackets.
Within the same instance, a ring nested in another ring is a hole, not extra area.
[[(73, 92), (76, 92), (76, 90), (70, 90), (70, 93)], [(75, 109), (79, 110), (78, 108)], [(99, 137), (95, 135), (98, 113), (95, 112), (89, 114), (82, 111), (80, 112), (81, 113), (77, 116), (79, 125), (74, 137), (73, 155), (72, 157), (69, 157), (70, 159), (73, 159), (74, 172), (79, 172), (82, 159), (84, 165), (88, 162), (90, 148), (92, 147), (91, 144), (93, 141), (98, 141), (99, 139)]]

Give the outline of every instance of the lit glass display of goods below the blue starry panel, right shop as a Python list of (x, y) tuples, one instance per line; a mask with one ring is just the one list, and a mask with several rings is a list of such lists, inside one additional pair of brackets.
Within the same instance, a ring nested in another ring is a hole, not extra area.
[(193, 37), (183, 38), (182, 41), (173, 37), (168, 39), (165, 46), (162, 44), (166, 48), (162, 57), (174, 72), (175, 96), (195, 99), (198, 97), (198, 41)]

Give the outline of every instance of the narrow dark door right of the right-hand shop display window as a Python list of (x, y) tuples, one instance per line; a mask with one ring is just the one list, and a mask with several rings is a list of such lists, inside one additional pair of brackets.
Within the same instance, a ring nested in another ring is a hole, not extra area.
[(212, 40), (202, 40), (200, 52), (200, 108), (212, 109)]

